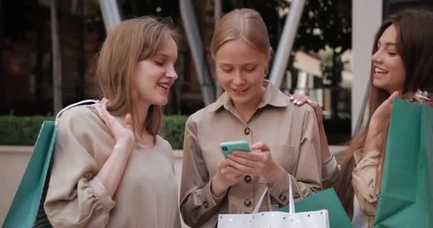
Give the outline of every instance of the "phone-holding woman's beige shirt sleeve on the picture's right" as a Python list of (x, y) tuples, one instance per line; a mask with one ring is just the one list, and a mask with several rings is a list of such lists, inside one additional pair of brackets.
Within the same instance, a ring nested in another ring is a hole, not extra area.
[(318, 123), (313, 108), (308, 106), (303, 117), (301, 146), (296, 171), (293, 175), (281, 175), (277, 182), (268, 188), (268, 193), (280, 204), (288, 204), (288, 181), (290, 177), (294, 184), (293, 197), (307, 197), (322, 189), (321, 172)]

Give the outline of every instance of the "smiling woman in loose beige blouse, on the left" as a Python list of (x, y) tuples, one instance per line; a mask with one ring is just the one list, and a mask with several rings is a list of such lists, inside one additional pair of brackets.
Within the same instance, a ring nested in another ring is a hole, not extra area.
[(176, 38), (151, 17), (108, 34), (96, 70), (102, 102), (58, 119), (44, 203), (53, 227), (180, 227), (172, 147), (157, 135), (177, 79)]

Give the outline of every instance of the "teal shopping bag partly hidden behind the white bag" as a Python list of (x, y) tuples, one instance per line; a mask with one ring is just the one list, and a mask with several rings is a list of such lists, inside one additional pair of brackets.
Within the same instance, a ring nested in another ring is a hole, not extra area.
[[(341, 205), (340, 199), (333, 188), (328, 188), (321, 192), (315, 193), (305, 199), (295, 203), (296, 212), (311, 212), (320, 209), (328, 210), (330, 228), (347, 228), (352, 227), (348, 215)], [(281, 212), (288, 212), (288, 206), (278, 209)]]

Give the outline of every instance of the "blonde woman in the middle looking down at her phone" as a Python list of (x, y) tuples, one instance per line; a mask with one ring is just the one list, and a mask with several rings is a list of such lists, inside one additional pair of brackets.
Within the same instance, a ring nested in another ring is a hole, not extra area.
[[(216, 227), (218, 214), (253, 212), (266, 187), (269, 207), (321, 190), (318, 123), (313, 108), (296, 106), (264, 78), (271, 57), (264, 21), (236, 9), (215, 26), (211, 53), (225, 93), (194, 113), (184, 133), (180, 210), (191, 227)], [(224, 158), (219, 143), (244, 140), (251, 152)], [(290, 179), (289, 179), (290, 178)]]

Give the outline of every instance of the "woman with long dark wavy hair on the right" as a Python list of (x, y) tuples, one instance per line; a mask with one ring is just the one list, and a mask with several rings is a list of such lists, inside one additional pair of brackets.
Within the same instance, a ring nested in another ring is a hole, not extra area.
[[(388, 16), (376, 33), (370, 74), (370, 115), (365, 128), (350, 142), (339, 180), (334, 182), (353, 222), (367, 221), (363, 226), (358, 224), (359, 227), (372, 227), (374, 220), (393, 98), (400, 96), (432, 105), (432, 24), (433, 11), (410, 9)], [(303, 95), (293, 95), (299, 105), (307, 99)], [(318, 104), (313, 100), (308, 103), (321, 118)], [(324, 131), (320, 135), (324, 135)], [(326, 143), (326, 138), (322, 137), (321, 141)], [(329, 155), (328, 147), (322, 147), (322, 150), (323, 154)]]

